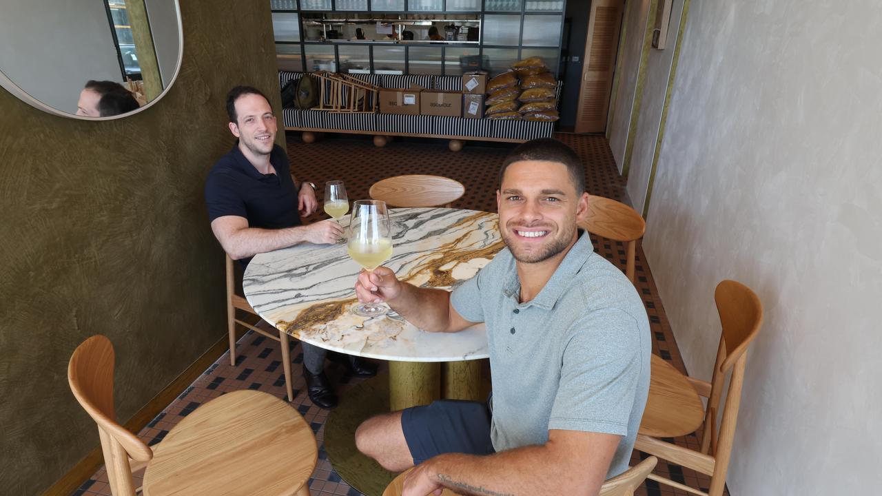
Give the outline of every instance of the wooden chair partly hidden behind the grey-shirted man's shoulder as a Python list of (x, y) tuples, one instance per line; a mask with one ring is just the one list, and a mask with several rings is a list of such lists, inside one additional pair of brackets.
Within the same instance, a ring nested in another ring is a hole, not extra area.
[(634, 282), (637, 240), (647, 230), (647, 222), (632, 207), (615, 199), (588, 195), (588, 214), (579, 227), (591, 234), (627, 243), (624, 274)]

